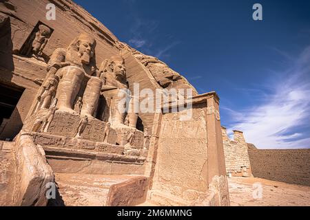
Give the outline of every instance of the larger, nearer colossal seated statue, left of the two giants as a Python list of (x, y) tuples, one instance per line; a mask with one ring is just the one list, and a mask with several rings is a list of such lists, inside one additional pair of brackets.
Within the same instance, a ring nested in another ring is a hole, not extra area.
[(58, 69), (59, 85), (56, 92), (59, 111), (79, 113), (74, 111), (73, 104), (79, 94), (83, 80), (87, 80), (87, 86), (83, 91), (83, 107), (81, 115), (92, 118), (100, 96), (102, 82), (94, 76), (96, 40), (88, 35), (81, 34), (70, 44), (67, 50), (59, 48), (54, 51), (48, 64)]

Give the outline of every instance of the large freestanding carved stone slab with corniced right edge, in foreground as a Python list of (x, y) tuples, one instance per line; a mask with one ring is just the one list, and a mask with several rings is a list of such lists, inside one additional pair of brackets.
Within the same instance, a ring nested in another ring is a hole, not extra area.
[(218, 101), (215, 92), (194, 96), (189, 120), (180, 109), (155, 116), (145, 172), (151, 203), (229, 206)]

